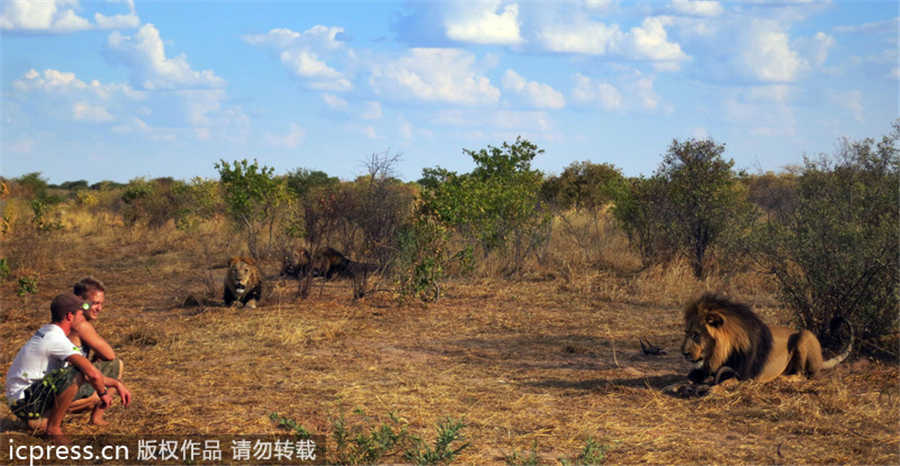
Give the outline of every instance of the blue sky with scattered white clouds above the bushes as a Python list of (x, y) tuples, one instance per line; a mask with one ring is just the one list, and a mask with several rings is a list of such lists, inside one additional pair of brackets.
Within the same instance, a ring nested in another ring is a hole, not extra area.
[(0, 1), (0, 174), (53, 183), (533, 165), (650, 175), (673, 139), (751, 172), (887, 134), (893, 0)]

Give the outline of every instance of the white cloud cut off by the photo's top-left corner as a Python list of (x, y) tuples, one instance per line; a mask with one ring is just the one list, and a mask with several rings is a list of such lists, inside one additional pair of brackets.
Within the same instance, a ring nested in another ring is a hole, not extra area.
[(127, 14), (105, 16), (94, 14), (94, 22), (79, 16), (77, 0), (9, 0), (0, 12), (0, 30), (9, 32), (43, 32), (64, 34), (93, 29), (134, 28), (140, 20), (129, 2)]

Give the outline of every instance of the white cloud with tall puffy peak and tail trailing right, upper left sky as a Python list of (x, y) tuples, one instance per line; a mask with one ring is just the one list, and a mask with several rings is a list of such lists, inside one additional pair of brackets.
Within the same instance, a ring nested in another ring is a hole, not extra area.
[(142, 89), (216, 88), (225, 85), (225, 80), (211, 70), (191, 69), (183, 54), (166, 57), (165, 45), (152, 24), (141, 27), (133, 37), (113, 31), (107, 40), (107, 50), (112, 58), (130, 69), (132, 83)]

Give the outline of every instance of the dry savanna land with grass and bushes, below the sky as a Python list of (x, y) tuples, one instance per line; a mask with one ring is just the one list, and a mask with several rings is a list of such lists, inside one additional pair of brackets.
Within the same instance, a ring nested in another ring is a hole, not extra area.
[[(306, 432), (323, 463), (897, 464), (898, 135), (778, 174), (690, 140), (646, 179), (547, 175), (516, 140), (416, 183), (388, 153), (353, 181), (247, 160), (214, 180), (5, 179), (0, 366), (94, 276), (134, 401), (102, 429), (67, 417), (72, 434)], [(286, 252), (326, 245), (378, 265), (362, 297), (315, 276), (303, 298), (279, 276)], [(235, 255), (265, 277), (255, 309), (223, 303)], [(682, 309), (707, 291), (829, 354), (840, 309), (853, 355), (811, 380), (673, 396), (692, 368)], [(0, 410), (4, 435), (30, 438)]]

